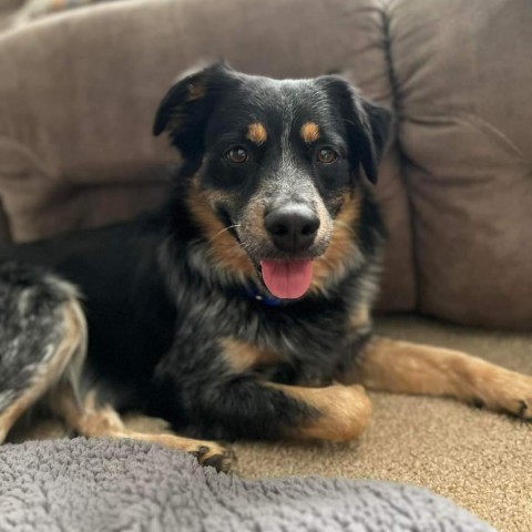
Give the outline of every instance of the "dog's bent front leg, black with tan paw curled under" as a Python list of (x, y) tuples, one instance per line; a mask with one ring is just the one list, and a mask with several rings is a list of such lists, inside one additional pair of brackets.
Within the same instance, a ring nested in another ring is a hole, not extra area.
[(257, 360), (264, 362), (256, 347), (234, 339), (202, 344), (206, 359), (197, 349), (190, 352), (193, 341), (184, 341), (157, 370), (157, 388), (174, 389), (184, 409), (161, 411), (174, 426), (185, 419), (195, 434), (212, 439), (347, 441), (369, 421), (371, 405), (359, 386), (267, 382), (253, 372)]

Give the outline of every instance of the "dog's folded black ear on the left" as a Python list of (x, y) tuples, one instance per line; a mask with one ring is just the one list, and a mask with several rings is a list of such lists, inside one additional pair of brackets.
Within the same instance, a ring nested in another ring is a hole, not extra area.
[(218, 62), (180, 76), (158, 105), (153, 134), (168, 132), (172, 145), (185, 158), (203, 152), (204, 133), (209, 114), (234, 71)]

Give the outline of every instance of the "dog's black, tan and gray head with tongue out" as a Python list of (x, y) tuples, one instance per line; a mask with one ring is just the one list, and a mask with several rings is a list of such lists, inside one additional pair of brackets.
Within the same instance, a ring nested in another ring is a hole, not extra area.
[(361, 170), (377, 181), (390, 119), (338, 76), (278, 81), (217, 63), (171, 88), (154, 134), (168, 131), (190, 168), (187, 205), (213, 257), (294, 299), (360, 258)]

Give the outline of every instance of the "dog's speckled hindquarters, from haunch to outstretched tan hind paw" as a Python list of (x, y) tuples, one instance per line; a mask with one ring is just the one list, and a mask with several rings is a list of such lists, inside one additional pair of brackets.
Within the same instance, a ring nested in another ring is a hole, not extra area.
[(14, 422), (43, 402), (78, 433), (130, 438), (190, 452), (200, 463), (231, 468), (233, 454), (209, 441), (125, 428), (95, 392), (80, 390), (86, 324), (76, 289), (39, 268), (0, 264), (0, 443)]

